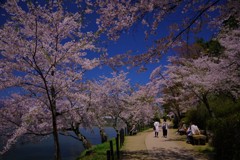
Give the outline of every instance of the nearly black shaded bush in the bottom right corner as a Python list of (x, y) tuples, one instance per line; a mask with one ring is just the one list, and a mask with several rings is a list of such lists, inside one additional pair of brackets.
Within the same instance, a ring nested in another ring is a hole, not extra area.
[(226, 117), (214, 119), (213, 147), (217, 160), (237, 160), (240, 158), (240, 114), (236, 112)]

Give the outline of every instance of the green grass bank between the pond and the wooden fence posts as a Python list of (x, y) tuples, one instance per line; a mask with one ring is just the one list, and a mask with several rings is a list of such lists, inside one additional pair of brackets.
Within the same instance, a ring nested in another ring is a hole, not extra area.
[[(113, 141), (113, 150), (114, 150), (114, 158), (116, 155), (116, 141)], [(81, 153), (81, 155), (77, 158), (77, 160), (106, 160), (107, 159), (107, 150), (110, 150), (109, 141), (93, 146), (91, 149), (85, 150)]]

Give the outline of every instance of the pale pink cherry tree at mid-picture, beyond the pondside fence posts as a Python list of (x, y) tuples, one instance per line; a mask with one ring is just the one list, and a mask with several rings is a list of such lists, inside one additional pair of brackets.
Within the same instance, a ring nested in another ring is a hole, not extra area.
[(102, 116), (109, 116), (112, 119), (112, 126), (118, 129), (119, 116), (125, 113), (128, 97), (131, 93), (127, 73), (112, 73), (112, 77), (102, 77), (102, 80), (96, 81), (94, 90), (99, 97), (98, 105), (101, 105)]

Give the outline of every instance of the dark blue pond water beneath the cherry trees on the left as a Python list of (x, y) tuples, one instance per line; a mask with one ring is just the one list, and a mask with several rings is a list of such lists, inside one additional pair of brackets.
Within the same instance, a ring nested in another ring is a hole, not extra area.
[[(111, 127), (105, 127), (105, 132), (109, 139), (116, 137), (116, 132)], [(93, 132), (81, 129), (81, 132), (90, 142), (101, 143), (98, 128), (93, 128)], [(60, 147), (62, 160), (75, 160), (84, 150), (82, 142), (71, 137), (60, 135)], [(17, 144), (8, 151), (1, 160), (53, 160), (54, 145), (53, 137), (48, 137), (38, 143)]]

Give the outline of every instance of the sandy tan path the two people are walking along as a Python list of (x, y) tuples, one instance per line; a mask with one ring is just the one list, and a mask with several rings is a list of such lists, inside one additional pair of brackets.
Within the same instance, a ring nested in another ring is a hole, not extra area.
[[(167, 138), (154, 137), (152, 129), (134, 136), (126, 136), (122, 147), (122, 160), (210, 160), (208, 145), (186, 143), (185, 135), (177, 135), (176, 129), (169, 129)], [(201, 152), (200, 152), (201, 151)]]

